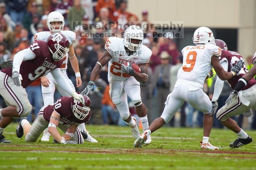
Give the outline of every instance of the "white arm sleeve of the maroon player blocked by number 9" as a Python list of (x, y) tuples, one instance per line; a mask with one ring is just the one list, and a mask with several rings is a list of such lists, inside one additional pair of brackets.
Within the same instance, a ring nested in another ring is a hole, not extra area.
[[(221, 66), (223, 67), (223, 69), (224, 69), (225, 71), (227, 71), (227, 68), (228, 68), (227, 61), (223, 61), (223, 62), (221, 63)], [(221, 95), (221, 91), (222, 91), (223, 86), (224, 86), (224, 81), (221, 80), (221, 79), (217, 76), (216, 82), (215, 82), (215, 84), (214, 84), (214, 92), (213, 92), (213, 96), (212, 96), (212, 101), (218, 100), (219, 96)]]

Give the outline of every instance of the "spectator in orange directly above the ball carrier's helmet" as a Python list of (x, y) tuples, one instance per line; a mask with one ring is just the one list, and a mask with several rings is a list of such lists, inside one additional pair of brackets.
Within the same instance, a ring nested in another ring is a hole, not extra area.
[(114, 12), (114, 21), (117, 21), (118, 24), (122, 25), (122, 28), (119, 29), (125, 29), (124, 25), (128, 23), (129, 18), (134, 15), (136, 20), (139, 20), (138, 17), (135, 14), (132, 14), (131, 12), (127, 11), (127, 2), (123, 1), (120, 3), (120, 7), (117, 11)]

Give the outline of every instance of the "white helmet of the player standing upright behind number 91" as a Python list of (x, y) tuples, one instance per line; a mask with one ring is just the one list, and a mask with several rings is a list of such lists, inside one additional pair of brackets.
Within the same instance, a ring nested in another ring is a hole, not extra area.
[[(56, 25), (56, 26), (52, 26), (51, 25), (51, 22), (56, 22), (56, 21), (61, 21), (62, 24), (61, 25)], [(53, 31), (53, 32), (60, 32), (63, 30), (64, 28), (64, 24), (65, 24), (65, 21), (64, 21), (64, 17), (62, 14), (60, 14), (60, 12), (57, 12), (57, 11), (53, 11), (51, 12), (49, 15), (48, 15), (48, 18), (47, 18), (47, 26), (49, 28), (49, 30)], [(55, 27), (59, 27), (59, 29), (55, 29)]]

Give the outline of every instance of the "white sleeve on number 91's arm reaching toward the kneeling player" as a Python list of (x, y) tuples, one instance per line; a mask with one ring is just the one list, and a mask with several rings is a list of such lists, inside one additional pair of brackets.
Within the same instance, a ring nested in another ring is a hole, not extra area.
[(59, 84), (59, 86), (66, 91), (68, 94), (72, 94), (75, 90), (73, 90), (68, 81), (64, 78), (64, 76), (60, 72), (60, 68), (56, 68), (52, 70), (50, 73), (52, 73), (53, 78), (55, 79), (56, 83)]

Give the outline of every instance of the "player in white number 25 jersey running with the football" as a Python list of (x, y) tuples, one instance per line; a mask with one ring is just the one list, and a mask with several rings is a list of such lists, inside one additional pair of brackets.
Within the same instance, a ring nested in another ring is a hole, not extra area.
[[(140, 83), (147, 81), (147, 63), (151, 50), (142, 45), (143, 31), (139, 26), (131, 25), (124, 32), (124, 38), (109, 37), (105, 44), (106, 51), (93, 68), (90, 82), (81, 94), (88, 95), (93, 90), (94, 81), (101, 68), (108, 65), (108, 81), (110, 97), (116, 105), (121, 118), (131, 127), (132, 135), (140, 136), (135, 117), (129, 113), (127, 95), (132, 99), (136, 112), (142, 122), (143, 131), (148, 129), (146, 107), (140, 97)], [(127, 63), (127, 65), (124, 65)], [(131, 64), (139, 65), (141, 73), (134, 71)], [(146, 141), (151, 143), (151, 137)]]

